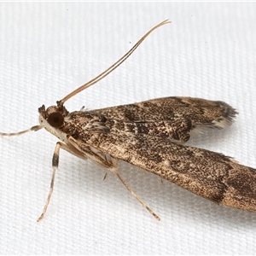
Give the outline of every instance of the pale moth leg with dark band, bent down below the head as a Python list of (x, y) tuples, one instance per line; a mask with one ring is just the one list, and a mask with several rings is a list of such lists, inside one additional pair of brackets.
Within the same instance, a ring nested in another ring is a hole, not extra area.
[(41, 213), (40, 217), (38, 218), (38, 221), (42, 220), (44, 218), (45, 212), (47, 211), (47, 208), (49, 206), (49, 201), (53, 192), (54, 188), (54, 183), (55, 183), (55, 172), (58, 169), (59, 166), (59, 156), (60, 156), (60, 148), (66, 150), (67, 152), (74, 154), (73, 151), (68, 148), (68, 146), (65, 143), (58, 142), (56, 143), (55, 146), (55, 152), (52, 157), (52, 176), (51, 176), (51, 182), (49, 186), (49, 194), (47, 196), (45, 205), (44, 205), (44, 210)]

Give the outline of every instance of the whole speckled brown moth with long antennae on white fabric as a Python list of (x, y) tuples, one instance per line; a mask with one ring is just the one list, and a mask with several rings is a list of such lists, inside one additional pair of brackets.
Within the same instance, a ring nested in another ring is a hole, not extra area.
[(96, 110), (82, 108), (68, 112), (64, 106), (68, 99), (119, 67), (151, 32), (167, 23), (170, 21), (164, 20), (154, 26), (119, 61), (73, 90), (55, 106), (38, 108), (39, 125), (16, 133), (0, 133), (1, 136), (17, 136), (45, 128), (61, 140), (55, 145), (49, 195), (38, 221), (44, 218), (49, 206), (60, 149), (83, 160), (93, 160), (116, 174), (131, 195), (159, 220), (120, 176), (119, 160), (218, 204), (256, 212), (255, 169), (242, 166), (224, 154), (184, 145), (196, 131), (229, 126), (237, 112), (227, 103), (171, 96)]

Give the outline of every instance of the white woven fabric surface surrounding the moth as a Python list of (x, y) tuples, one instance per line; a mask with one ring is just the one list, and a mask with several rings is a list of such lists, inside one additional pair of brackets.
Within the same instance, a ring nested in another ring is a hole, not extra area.
[[(256, 167), (255, 3), (0, 3), (0, 131), (38, 124), (38, 107), (125, 54), (108, 78), (67, 102), (70, 111), (196, 96), (238, 109), (226, 131), (190, 144)], [(256, 213), (218, 206), (136, 166), (126, 182), (160, 215), (154, 219), (117, 177), (61, 151), (55, 191), (44, 207), (57, 139), (47, 131), (0, 138), (0, 253), (255, 254)]]

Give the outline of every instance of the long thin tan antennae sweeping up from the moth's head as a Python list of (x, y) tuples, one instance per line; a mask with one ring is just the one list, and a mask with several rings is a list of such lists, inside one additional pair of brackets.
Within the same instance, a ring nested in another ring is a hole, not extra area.
[(125, 55), (123, 55), (119, 61), (116, 61), (113, 63), (112, 66), (108, 67), (108, 69), (106, 69), (104, 72), (100, 73), (98, 76), (96, 76), (96, 78), (91, 79), (89, 82), (81, 85), (78, 89), (73, 90), (73, 92), (69, 93), (67, 96), (65, 96), (61, 101), (57, 102), (58, 106), (63, 106), (64, 102), (67, 102), (68, 99), (70, 99), (71, 97), (75, 96), (76, 94), (78, 94), (80, 91), (90, 87), (90, 85), (92, 84), (96, 84), (97, 82), (99, 82), (100, 80), (102, 80), (103, 78), (105, 78), (106, 76), (108, 76), (109, 73), (112, 73), (113, 70), (117, 67), (119, 67), (119, 65), (121, 65), (136, 49), (137, 47), (143, 43), (144, 39), (148, 37), (148, 35), (153, 32), (155, 29), (157, 29), (160, 26), (166, 25), (168, 23), (171, 23), (170, 20), (164, 20), (162, 22), (160, 22), (158, 25), (154, 26), (153, 28), (151, 28), (142, 38), (140, 38), (136, 44), (134, 44), (134, 46), (127, 52), (125, 53)]

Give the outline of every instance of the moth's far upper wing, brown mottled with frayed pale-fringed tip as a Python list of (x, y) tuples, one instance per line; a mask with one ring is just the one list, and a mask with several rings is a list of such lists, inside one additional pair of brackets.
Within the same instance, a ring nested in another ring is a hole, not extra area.
[(236, 109), (225, 102), (192, 97), (164, 97), (145, 102), (102, 108), (90, 111), (108, 119), (125, 122), (147, 122), (190, 119), (194, 129), (201, 127), (224, 128), (236, 117)]

